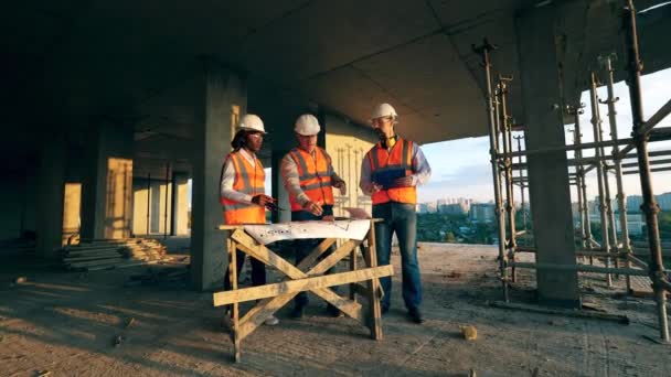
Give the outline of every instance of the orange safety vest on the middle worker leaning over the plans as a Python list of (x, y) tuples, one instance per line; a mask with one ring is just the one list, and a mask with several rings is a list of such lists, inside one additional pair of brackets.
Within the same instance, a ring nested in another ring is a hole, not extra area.
[[(331, 187), (333, 166), (327, 152), (317, 147), (315, 148), (315, 158), (312, 158), (312, 154), (302, 149), (294, 148), (289, 151), (289, 155), (298, 168), (300, 188), (310, 201), (333, 205), (333, 188)], [(289, 203), (291, 204), (291, 211), (302, 209), (302, 206), (298, 204), (296, 196), (291, 193), (289, 193)]]

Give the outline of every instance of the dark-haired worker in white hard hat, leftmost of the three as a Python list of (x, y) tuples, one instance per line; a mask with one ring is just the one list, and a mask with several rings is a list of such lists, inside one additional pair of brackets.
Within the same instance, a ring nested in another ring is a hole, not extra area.
[[(265, 194), (265, 172), (256, 153), (262, 148), (266, 130), (258, 116), (247, 114), (241, 118), (237, 131), (231, 142), (233, 151), (224, 160), (221, 175), (221, 202), (224, 208), (224, 224), (265, 224), (266, 208), (275, 201)], [(245, 254), (236, 252), (237, 277), (245, 262)], [(252, 262), (252, 286), (266, 284), (266, 265), (249, 257)], [(231, 289), (230, 270), (226, 269), (224, 288)], [(279, 323), (274, 315), (265, 320), (267, 325)]]

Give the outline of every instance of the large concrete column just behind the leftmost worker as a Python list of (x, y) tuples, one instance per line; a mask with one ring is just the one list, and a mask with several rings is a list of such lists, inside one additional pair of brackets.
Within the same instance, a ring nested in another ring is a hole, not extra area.
[(202, 104), (196, 125), (193, 157), (191, 277), (198, 290), (212, 291), (223, 284), (227, 265), (219, 185), (223, 158), (235, 123), (247, 107), (247, 83), (241, 74), (214, 62), (205, 62)]

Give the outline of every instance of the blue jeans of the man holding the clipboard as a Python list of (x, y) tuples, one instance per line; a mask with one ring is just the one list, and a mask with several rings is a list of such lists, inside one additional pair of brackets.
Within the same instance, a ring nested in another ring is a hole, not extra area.
[[(375, 249), (377, 265), (388, 265), (392, 256), (392, 235), (396, 231), (401, 249), (401, 270), (403, 272), (403, 300), (407, 309), (422, 304), (422, 280), (417, 262), (417, 214), (414, 204), (388, 202), (373, 205), (373, 217), (382, 218), (375, 223)], [(392, 278), (381, 278), (384, 289), (382, 306), (388, 309), (392, 299)]]

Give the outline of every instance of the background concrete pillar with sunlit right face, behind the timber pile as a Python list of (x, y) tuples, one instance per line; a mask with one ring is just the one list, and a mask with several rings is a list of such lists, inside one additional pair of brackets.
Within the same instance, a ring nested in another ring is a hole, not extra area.
[(132, 128), (105, 121), (89, 140), (82, 184), (82, 238), (129, 237)]

